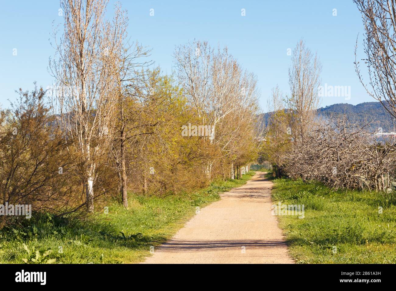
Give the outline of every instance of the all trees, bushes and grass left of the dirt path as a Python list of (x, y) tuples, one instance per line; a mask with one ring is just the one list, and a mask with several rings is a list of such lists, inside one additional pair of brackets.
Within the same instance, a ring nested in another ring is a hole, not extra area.
[(176, 44), (163, 74), (130, 41), (127, 11), (107, 6), (61, 0), (53, 84), (0, 108), (2, 263), (143, 260), (250, 177), (257, 77), (202, 40)]

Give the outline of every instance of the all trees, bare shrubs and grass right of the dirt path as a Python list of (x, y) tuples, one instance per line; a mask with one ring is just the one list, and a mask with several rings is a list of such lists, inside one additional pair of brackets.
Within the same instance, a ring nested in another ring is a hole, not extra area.
[[(364, 59), (356, 43), (356, 73), (390, 120), (396, 118), (395, 8), (380, 0), (354, 2), (365, 30)], [(274, 203), (304, 205), (304, 217), (279, 216), (290, 253), (298, 263), (395, 263), (396, 141), (368, 117), (318, 116), (326, 84), (321, 68), (301, 40), (289, 66), (289, 93), (276, 86), (268, 100), (259, 153), (272, 164)]]

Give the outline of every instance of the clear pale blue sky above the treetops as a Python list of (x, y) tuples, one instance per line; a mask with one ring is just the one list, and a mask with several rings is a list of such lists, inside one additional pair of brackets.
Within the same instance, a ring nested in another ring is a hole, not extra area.
[[(354, 71), (354, 45), (358, 33), (362, 43), (363, 25), (352, 0), (284, 1), (143, 1), (121, 0), (128, 10), (129, 35), (152, 48), (152, 59), (164, 72), (172, 70), (176, 45), (194, 38), (208, 40), (212, 46), (227, 45), (243, 67), (254, 72), (265, 110), (271, 88), (279, 84), (289, 91), (287, 68), (294, 48), (303, 37), (317, 51), (323, 65), (322, 83), (350, 86), (351, 98), (324, 97), (322, 106), (334, 103), (358, 104), (374, 101), (367, 96)], [(110, 0), (111, 15), (114, 1)], [(58, 16), (57, 0), (2, 1), (0, 11), (0, 104), (8, 107), (14, 90), (32, 89), (37, 81), (44, 88), (52, 82), (48, 58), (54, 50), (49, 44), (52, 22)], [(150, 16), (150, 9), (154, 16)], [(246, 16), (241, 16), (241, 9)], [(337, 16), (333, 16), (333, 9)], [(13, 49), (17, 55), (13, 55)], [(360, 57), (364, 57), (360, 45)]]

